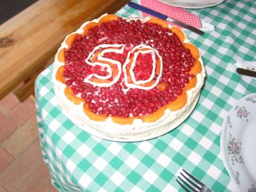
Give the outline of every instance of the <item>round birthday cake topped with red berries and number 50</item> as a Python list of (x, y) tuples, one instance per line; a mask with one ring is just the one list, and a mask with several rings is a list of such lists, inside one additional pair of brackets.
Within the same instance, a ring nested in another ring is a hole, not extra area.
[(63, 113), (84, 131), (140, 141), (180, 125), (204, 77), (200, 52), (176, 26), (105, 14), (65, 38), (52, 83)]

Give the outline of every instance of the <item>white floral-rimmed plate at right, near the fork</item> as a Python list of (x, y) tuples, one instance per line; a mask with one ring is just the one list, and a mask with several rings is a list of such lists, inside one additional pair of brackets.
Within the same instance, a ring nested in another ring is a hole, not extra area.
[(220, 141), (225, 167), (240, 191), (256, 191), (256, 93), (234, 104)]

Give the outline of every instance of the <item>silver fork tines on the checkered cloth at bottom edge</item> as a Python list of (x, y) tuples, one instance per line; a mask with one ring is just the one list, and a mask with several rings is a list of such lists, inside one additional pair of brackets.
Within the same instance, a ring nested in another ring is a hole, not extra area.
[[(205, 184), (203, 184), (200, 180), (196, 179), (193, 175), (188, 173), (186, 170), (184, 170), (184, 169), (182, 169), (182, 170), (183, 170), (183, 172), (185, 172), (188, 175), (188, 177), (186, 175), (184, 175), (182, 172), (180, 172), (180, 175), (182, 175), (182, 177), (184, 177), (186, 180), (184, 180), (180, 176), (178, 176), (183, 184), (178, 179), (176, 179), (176, 181), (179, 183), (180, 187), (182, 187), (186, 192), (190, 192), (189, 189), (193, 192), (198, 192), (198, 191), (199, 192), (211, 192), (211, 189), (209, 189), (207, 186), (205, 186)], [(189, 184), (186, 181), (188, 181)], [(185, 186), (187, 186), (187, 188)]]

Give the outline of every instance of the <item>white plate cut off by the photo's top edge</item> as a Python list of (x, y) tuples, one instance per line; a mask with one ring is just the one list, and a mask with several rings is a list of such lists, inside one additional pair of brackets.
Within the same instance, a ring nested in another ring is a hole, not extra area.
[(225, 0), (159, 0), (165, 4), (169, 4), (172, 6), (178, 6), (182, 8), (206, 8), (209, 6), (216, 6), (218, 4), (223, 3)]

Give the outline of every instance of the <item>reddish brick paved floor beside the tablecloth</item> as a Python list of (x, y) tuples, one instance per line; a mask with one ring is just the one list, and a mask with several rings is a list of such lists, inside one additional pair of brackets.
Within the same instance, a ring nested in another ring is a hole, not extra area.
[(42, 160), (35, 100), (0, 100), (0, 192), (57, 191)]

